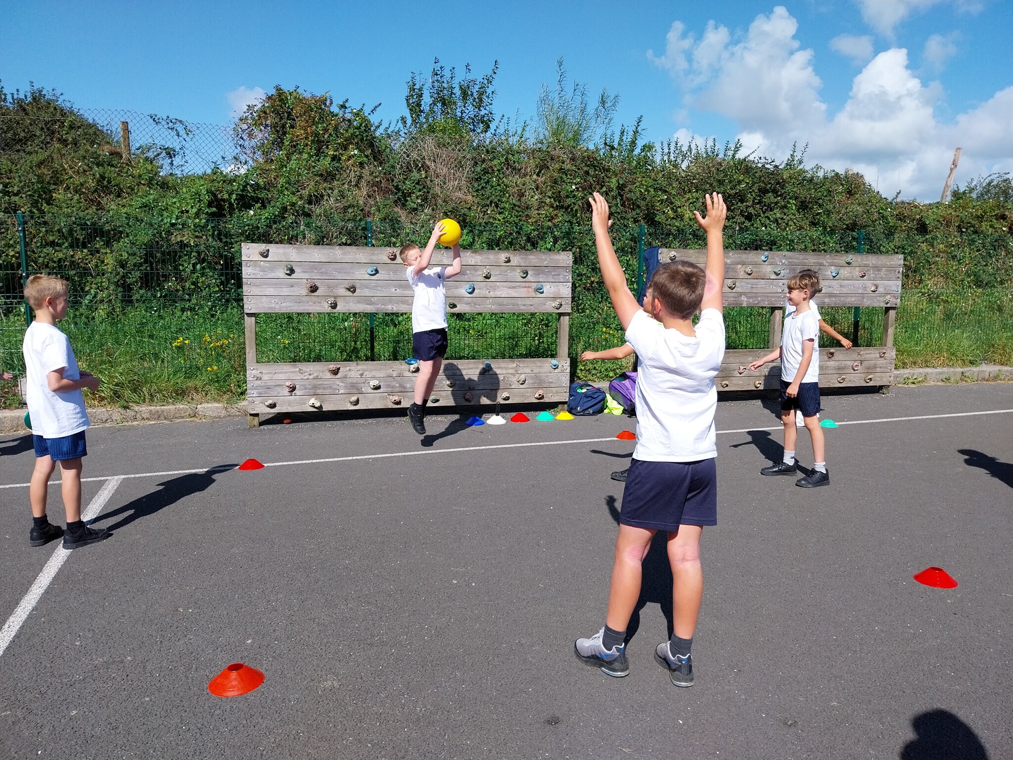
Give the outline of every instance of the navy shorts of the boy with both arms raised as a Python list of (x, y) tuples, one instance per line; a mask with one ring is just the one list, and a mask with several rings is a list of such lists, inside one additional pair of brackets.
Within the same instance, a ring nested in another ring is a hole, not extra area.
[(675, 533), (680, 525), (717, 525), (717, 467), (698, 462), (634, 459), (626, 475), (622, 525)]

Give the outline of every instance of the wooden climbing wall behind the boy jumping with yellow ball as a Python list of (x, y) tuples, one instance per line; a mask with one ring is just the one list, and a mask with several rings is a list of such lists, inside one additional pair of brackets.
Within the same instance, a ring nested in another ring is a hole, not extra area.
[[(563, 401), (569, 393), (569, 251), (462, 250), (447, 282), (450, 313), (558, 314), (557, 354), (544, 359), (445, 360), (431, 404)], [(256, 315), (265, 312), (411, 311), (396, 248), (243, 243), (246, 387), (250, 425), (260, 413), (397, 408), (411, 403), (417, 365), (405, 362), (261, 364)], [(448, 249), (433, 256), (451, 262)]]

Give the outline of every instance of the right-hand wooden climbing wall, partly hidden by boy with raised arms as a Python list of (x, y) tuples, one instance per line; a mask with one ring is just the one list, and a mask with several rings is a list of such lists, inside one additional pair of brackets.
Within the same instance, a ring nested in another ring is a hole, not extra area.
[[(661, 248), (658, 260), (685, 260), (704, 265), (706, 251)], [(769, 250), (729, 250), (724, 254), (725, 306), (764, 306), (770, 309), (769, 349), (781, 345), (783, 309), (787, 281), (795, 273), (810, 269), (820, 276), (823, 292), (816, 305), (879, 306), (883, 309), (881, 346), (822, 348), (822, 387), (889, 386), (893, 380), (897, 352), (893, 328), (901, 303), (901, 275), (904, 256), (851, 253), (800, 253)], [(778, 388), (779, 362), (751, 372), (749, 365), (762, 356), (763, 349), (726, 351), (714, 382), (719, 390)]]

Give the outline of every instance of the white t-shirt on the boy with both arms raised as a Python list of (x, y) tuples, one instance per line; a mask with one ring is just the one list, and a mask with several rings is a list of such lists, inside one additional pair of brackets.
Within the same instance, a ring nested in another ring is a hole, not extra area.
[(717, 456), (714, 376), (724, 358), (724, 319), (704, 309), (696, 337), (638, 311), (626, 328), (637, 355), (636, 449), (647, 462), (696, 462)]

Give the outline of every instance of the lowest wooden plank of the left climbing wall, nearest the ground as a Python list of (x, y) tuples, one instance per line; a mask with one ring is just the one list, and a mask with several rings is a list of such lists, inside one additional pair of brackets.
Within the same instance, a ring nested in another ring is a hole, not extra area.
[[(558, 403), (560, 401), (565, 401), (569, 397), (569, 386), (552, 386), (546, 388), (526, 388), (521, 390), (512, 389), (509, 391), (510, 399), (503, 400), (501, 398), (500, 391), (474, 391), (472, 400), (468, 401), (464, 398), (464, 393), (467, 391), (459, 391), (454, 388), (450, 392), (437, 391), (434, 395), (440, 400), (437, 403), (430, 402), (430, 409), (439, 410), (441, 407), (454, 407), (454, 406), (478, 406), (478, 405), (490, 405), (494, 403), (502, 403), (504, 405), (514, 403)], [(535, 394), (541, 392), (542, 398), (536, 398)], [(400, 397), (400, 403), (392, 403), (390, 401), (389, 395), (386, 393), (340, 393), (340, 394), (330, 394), (330, 395), (319, 395), (314, 396), (314, 398), (320, 402), (321, 408), (309, 405), (309, 399), (306, 396), (296, 396), (296, 397), (285, 397), (278, 399), (270, 399), (275, 401), (275, 406), (267, 407), (264, 405), (262, 400), (248, 399), (246, 401), (246, 408), (248, 413), (270, 413), (279, 411), (331, 411), (331, 410), (349, 410), (355, 411), (356, 409), (405, 409), (411, 403), (411, 393), (398, 393), (395, 394)], [(353, 397), (358, 398), (358, 402), (353, 404)]]

